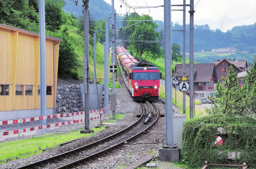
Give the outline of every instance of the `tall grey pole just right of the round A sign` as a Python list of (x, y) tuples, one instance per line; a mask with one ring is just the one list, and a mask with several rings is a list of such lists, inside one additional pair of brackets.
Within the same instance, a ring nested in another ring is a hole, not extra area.
[(189, 112), (194, 117), (194, 0), (190, 0), (189, 21)]

